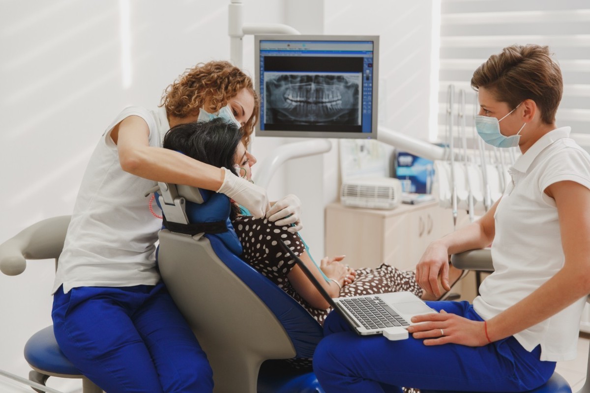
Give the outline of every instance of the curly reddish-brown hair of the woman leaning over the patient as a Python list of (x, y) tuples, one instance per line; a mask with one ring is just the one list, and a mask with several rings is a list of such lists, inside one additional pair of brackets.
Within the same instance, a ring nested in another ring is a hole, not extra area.
[(160, 107), (165, 107), (168, 115), (180, 118), (198, 114), (204, 105), (208, 105), (206, 110), (215, 112), (244, 88), (254, 95), (254, 111), (242, 127), (243, 141), (248, 146), (260, 103), (252, 79), (228, 61), (209, 61), (188, 68), (166, 88)]

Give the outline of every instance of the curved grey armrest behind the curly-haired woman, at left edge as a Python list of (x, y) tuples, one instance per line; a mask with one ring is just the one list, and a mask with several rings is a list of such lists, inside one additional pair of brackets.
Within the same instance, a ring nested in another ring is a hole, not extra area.
[(27, 267), (26, 259), (57, 259), (64, 247), (71, 216), (51, 217), (32, 224), (0, 245), (0, 270), (16, 276)]

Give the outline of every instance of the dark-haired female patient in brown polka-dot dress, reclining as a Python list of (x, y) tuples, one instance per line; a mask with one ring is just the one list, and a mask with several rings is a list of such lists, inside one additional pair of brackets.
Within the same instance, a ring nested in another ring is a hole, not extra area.
[[(256, 159), (245, 149), (242, 139), (243, 135), (237, 127), (218, 118), (171, 128), (164, 138), (163, 147), (181, 151), (213, 166), (233, 167), (237, 176), (251, 180), (251, 166)], [(322, 259), (320, 269), (326, 280), (314, 266), (297, 233), (287, 231), (287, 226), (278, 227), (268, 219), (241, 214), (237, 204), (233, 208), (230, 218), (243, 247), (241, 258), (297, 300), (322, 325), (330, 311), (329, 304), (294, 260), (284, 253), (279, 239), (294, 247), (294, 253), (310, 267), (332, 298), (401, 290), (422, 295), (414, 272), (398, 270), (386, 264), (376, 269), (353, 270), (341, 263), (344, 256)], [(451, 270), (451, 282), (460, 274), (460, 270)]]

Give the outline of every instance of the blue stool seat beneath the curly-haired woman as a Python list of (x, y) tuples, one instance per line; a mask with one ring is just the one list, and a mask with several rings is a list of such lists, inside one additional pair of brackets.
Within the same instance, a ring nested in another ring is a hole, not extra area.
[(53, 326), (47, 326), (31, 336), (25, 344), (25, 359), (28, 364), (41, 371), (82, 377), (80, 371), (71, 364), (57, 345)]

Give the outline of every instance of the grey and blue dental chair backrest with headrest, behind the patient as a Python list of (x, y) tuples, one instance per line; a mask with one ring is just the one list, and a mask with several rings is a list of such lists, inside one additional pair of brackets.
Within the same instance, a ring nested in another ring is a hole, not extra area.
[(230, 199), (172, 184), (160, 190), (160, 273), (208, 356), (215, 391), (255, 393), (263, 361), (311, 358), (322, 328), (238, 257)]

